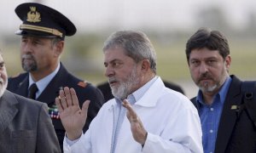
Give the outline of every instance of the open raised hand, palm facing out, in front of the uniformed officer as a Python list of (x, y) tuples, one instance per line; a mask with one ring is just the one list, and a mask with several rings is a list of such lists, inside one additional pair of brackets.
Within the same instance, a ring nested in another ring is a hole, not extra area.
[(66, 130), (67, 138), (71, 140), (78, 139), (83, 133), (90, 101), (86, 100), (81, 110), (75, 90), (65, 87), (60, 91), (60, 96), (55, 99), (55, 103), (60, 113), (62, 125)]

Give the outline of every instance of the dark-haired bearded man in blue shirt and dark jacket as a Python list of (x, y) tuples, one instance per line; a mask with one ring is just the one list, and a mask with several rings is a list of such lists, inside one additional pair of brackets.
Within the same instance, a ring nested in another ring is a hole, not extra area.
[[(229, 43), (220, 31), (201, 28), (186, 45), (189, 71), (199, 91), (204, 152), (255, 153), (256, 129), (243, 106), (242, 82), (229, 75)], [(256, 88), (255, 88), (256, 89)]]

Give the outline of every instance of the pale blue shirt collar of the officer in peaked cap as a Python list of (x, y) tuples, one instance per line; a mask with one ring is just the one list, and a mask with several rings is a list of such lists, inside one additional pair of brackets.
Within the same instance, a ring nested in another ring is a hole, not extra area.
[[(61, 67), (61, 65), (59, 63), (57, 68), (55, 69), (55, 71), (51, 72), (48, 76), (42, 78), (38, 82), (35, 82), (38, 86), (38, 95), (40, 95), (44, 91), (44, 88), (46, 88), (46, 86), (53, 79), (53, 77), (55, 77), (57, 72), (60, 70), (60, 67)], [(29, 73), (29, 86), (28, 86), (28, 88), (32, 85), (32, 83), (34, 83), (34, 81), (32, 80), (32, 76)]]

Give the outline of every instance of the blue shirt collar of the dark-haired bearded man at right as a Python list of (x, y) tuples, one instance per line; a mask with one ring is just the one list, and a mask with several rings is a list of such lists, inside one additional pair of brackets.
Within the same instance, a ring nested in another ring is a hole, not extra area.
[[(231, 81), (232, 81), (232, 78), (227, 77), (227, 79), (224, 82), (224, 85), (222, 86), (222, 88), (220, 88), (220, 90), (218, 91), (218, 94), (214, 95), (213, 99), (215, 99), (215, 97), (218, 96), (221, 104), (224, 104), (224, 100), (226, 99), (226, 95), (228, 93), (228, 89), (230, 87)], [(198, 94), (196, 96), (196, 103), (197, 103), (197, 105), (205, 105), (205, 103), (203, 102), (203, 99), (202, 99), (201, 90), (198, 91)]]

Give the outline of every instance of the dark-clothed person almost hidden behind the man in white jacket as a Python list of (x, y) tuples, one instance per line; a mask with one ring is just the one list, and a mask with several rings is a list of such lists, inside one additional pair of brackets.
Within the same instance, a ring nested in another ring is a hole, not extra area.
[[(166, 88), (171, 88), (172, 90), (175, 90), (181, 94), (185, 94), (183, 91), (183, 88), (179, 85), (173, 83), (173, 82), (166, 82), (163, 81)], [(109, 99), (113, 99), (113, 94), (111, 92), (111, 88), (109, 86), (109, 82), (102, 82), (97, 85), (97, 88), (99, 88), (102, 91), (102, 94), (104, 96), (105, 101), (107, 102)]]

